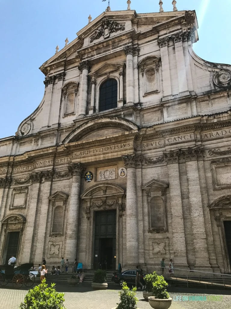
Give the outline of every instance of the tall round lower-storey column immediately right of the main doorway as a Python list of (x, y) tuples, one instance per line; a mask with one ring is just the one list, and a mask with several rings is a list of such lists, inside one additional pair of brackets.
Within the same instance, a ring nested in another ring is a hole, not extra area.
[(138, 256), (138, 211), (136, 199), (136, 165), (142, 156), (122, 156), (127, 168), (127, 194), (126, 194), (126, 266), (135, 267), (139, 263)]

